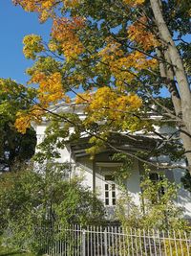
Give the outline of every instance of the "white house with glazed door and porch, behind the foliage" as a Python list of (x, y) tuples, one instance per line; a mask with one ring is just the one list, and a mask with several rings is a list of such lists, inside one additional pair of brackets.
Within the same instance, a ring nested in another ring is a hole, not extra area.
[[(55, 105), (51, 109), (53, 112), (71, 112), (76, 113), (80, 118), (84, 118), (83, 106), (79, 105)], [(37, 135), (37, 144), (43, 141), (45, 136), (45, 129), (48, 124), (44, 120), (40, 125), (32, 124), (33, 128), (36, 130)], [(158, 128), (157, 128), (158, 129)], [(159, 132), (168, 132), (168, 128), (159, 129)], [(125, 140), (124, 137), (118, 138), (118, 147), (123, 151), (138, 151), (138, 150), (149, 150), (152, 146), (153, 134), (144, 136), (139, 132), (140, 142), (134, 142), (134, 140)], [(119, 189), (117, 186), (117, 181), (115, 180), (113, 173), (117, 171), (120, 162), (115, 162), (112, 160), (112, 154), (114, 153), (111, 149), (105, 149), (100, 153), (96, 154), (96, 157), (91, 160), (90, 155), (86, 152), (88, 146), (88, 138), (84, 137), (79, 140), (78, 143), (68, 144), (64, 150), (59, 150), (61, 157), (56, 159), (59, 163), (70, 163), (72, 166), (71, 175), (83, 175), (83, 183), (85, 186), (88, 186), (90, 190), (96, 191), (99, 194), (99, 197), (103, 200), (105, 207), (110, 216), (115, 208), (117, 197), (119, 194)], [(131, 193), (132, 197), (135, 199), (135, 202), (139, 204), (139, 193), (140, 193), (140, 175), (143, 171), (142, 163), (137, 159), (132, 159), (133, 166), (131, 176), (124, 180), (128, 191)], [(168, 162), (166, 157), (160, 157), (159, 162)], [(183, 162), (181, 163), (184, 164)], [(172, 182), (180, 183), (180, 178), (184, 175), (183, 169), (177, 168), (173, 172), (170, 170), (157, 170), (153, 168), (153, 178), (158, 178), (158, 173), (163, 172), (169, 180)], [(191, 221), (191, 194), (186, 191), (184, 188), (180, 188), (177, 203), (183, 209), (184, 217), (190, 219)]]

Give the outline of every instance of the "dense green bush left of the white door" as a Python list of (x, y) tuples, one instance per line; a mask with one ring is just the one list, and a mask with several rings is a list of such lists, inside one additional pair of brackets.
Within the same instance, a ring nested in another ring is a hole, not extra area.
[(67, 168), (48, 164), (40, 174), (25, 170), (0, 176), (1, 232), (7, 243), (40, 251), (46, 228), (104, 221), (102, 202), (78, 178), (66, 179)]

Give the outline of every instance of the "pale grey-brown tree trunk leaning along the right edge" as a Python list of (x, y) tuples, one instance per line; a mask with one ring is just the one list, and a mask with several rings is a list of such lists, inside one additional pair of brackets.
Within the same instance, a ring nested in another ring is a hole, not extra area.
[[(189, 83), (187, 81), (187, 77), (184, 71), (183, 63), (180, 58), (180, 53), (173, 41), (172, 35), (170, 34), (168, 27), (163, 19), (162, 12), (161, 12), (161, 5), (159, 0), (150, 0), (151, 8), (153, 10), (156, 24), (159, 29), (159, 35), (162, 41), (165, 42), (166, 46), (166, 55), (168, 56), (170, 62), (172, 63), (173, 69), (173, 76), (170, 75), (171, 81), (178, 82), (179, 84), (179, 92), (180, 92), (180, 99), (171, 92), (173, 105), (175, 108), (175, 112), (177, 115), (182, 114), (182, 124), (183, 124), (183, 132), (180, 132), (180, 137), (183, 142), (183, 147), (185, 150), (185, 154), (188, 160), (189, 171), (191, 174), (191, 91), (189, 87)], [(169, 71), (168, 71), (169, 73)], [(169, 77), (169, 74), (166, 74)], [(175, 80), (174, 80), (175, 77)], [(176, 84), (171, 84), (172, 86)], [(172, 87), (171, 86), (171, 87)]]

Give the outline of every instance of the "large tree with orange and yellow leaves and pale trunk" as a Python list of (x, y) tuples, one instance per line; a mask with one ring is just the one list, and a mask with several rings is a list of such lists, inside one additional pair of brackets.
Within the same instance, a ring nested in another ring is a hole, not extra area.
[[(39, 103), (34, 112), (20, 112), (18, 130), (24, 131), (26, 120), (45, 115), (49, 105), (70, 102), (67, 93), (74, 92), (75, 103), (84, 105), (87, 117), (81, 121), (72, 114), (52, 113), (49, 142), (55, 145), (56, 136), (64, 139), (74, 127), (75, 137), (82, 131), (91, 137), (89, 152), (105, 145), (119, 151), (109, 138), (128, 130), (126, 137), (141, 140), (133, 132), (151, 131), (158, 136), (155, 147), (133, 156), (143, 162), (161, 153), (173, 160), (186, 157), (191, 172), (190, 45), (185, 37), (190, 33), (189, 1), (13, 2), (38, 12), (41, 22), (53, 19), (48, 44), (39, 35), (24, 38), (26, 58), (35, 59), (28, 74), (29, 82), (39, 84)], [(84, 92), (77, 93), (79, 88)], [(161, 96), (162, 88), (169, 96)], [(55, 119), (65, 121), (62, 130)], [(154, 128), (164, 125), (175, 129), (159, 134)]]

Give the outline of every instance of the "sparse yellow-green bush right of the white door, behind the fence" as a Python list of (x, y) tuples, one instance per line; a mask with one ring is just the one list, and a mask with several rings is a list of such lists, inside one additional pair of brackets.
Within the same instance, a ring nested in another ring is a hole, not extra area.
[(175, 203), (178, 187), (165, 176), (154, 182), (150, 171), (146, 170), (140, 182), (140, 205), (136, 205), (132, 196), (122, 188), (117, 202), (116, 216), (125, 228), (159, 230), (186, 229), (187, 221), (183, 220), (182, 211)]

